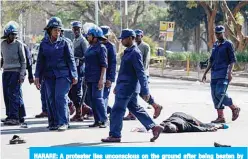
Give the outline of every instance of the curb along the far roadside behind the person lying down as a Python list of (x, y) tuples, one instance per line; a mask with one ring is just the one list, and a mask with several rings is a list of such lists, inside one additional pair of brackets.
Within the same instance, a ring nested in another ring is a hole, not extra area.
[[(150, 73), (150, 75), (152, 77), (160, 77), (160, 78), (168, 78), (168, 79), (176, 79), (176, 80), (184, 80), (184, 81), (192, 81), (192, 82), (199, 81), (197, 78), (193, 78), (193, 77), (175, 77), (175, 76), (168, 76), (168, 75), (161, 76), (161, 75), (152, 74), (152, 73)], [(210, 81), (207, 81), (206, 83), (210, 83)], [(231, 82), (230, 85), (231, 86), (248, 87), (248, 83)]]

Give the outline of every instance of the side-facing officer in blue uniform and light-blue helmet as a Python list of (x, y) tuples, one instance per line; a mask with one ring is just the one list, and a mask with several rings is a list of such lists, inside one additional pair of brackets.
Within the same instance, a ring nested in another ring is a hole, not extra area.
[(88, 98), (93, 109), (95, 122), (90, 127), (105, 128), (107, 112), (103, 91), (107, 69), (107, 49), (100, 40), (106, 39), (102, 29), (91, 27), (87, 34), (90, 47), (85, 52), (85, 81), (88, 86)]

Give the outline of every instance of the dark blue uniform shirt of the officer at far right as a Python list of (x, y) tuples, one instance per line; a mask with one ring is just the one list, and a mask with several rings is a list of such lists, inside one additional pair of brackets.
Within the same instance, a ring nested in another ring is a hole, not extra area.
[(236, 62), (234, 47), (231, 41), (224, 40), (222, 43), (216, 41), (214, 43), (212, 54), (210, 57), (211, 78), (221, 79), (227, 78), (228, 66)]

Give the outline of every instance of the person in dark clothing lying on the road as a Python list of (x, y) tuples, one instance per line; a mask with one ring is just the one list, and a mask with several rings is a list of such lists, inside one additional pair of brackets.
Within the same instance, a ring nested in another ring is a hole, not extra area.
[(202, 123), (193, 116), (182, 112), (173, 113), (160, 125), (164, 127), (163, 132), (165, 133), (212, 132), (217, 131), (217, 129), (228, 128), (224, 124)]

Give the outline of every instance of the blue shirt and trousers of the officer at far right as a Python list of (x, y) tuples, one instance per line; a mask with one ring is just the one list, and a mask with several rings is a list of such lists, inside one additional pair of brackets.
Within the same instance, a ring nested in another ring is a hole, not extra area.
[[(216, 109), (224, 109), (225, 106), (233, 105), (232, 99), (226, 93), (228, 81), (228, 67), (236, 62), (233, 44), (224, 40), (214, 43), (210, 57), (211, 67), (211, 94)], [(218, 107), (222, 95), (225, 95), (220, 107)]]

